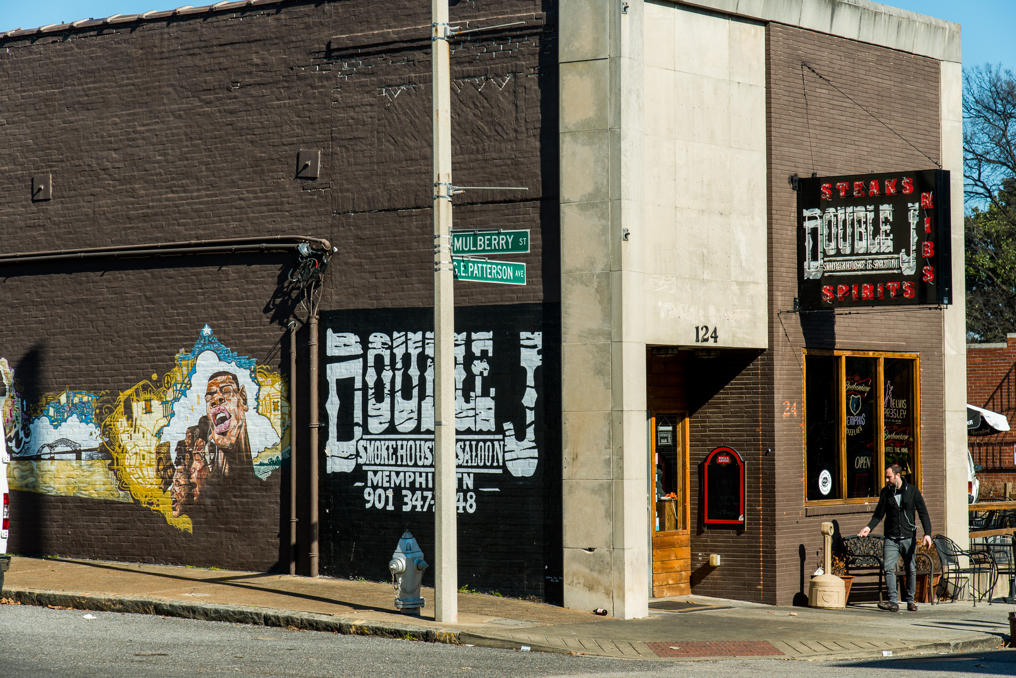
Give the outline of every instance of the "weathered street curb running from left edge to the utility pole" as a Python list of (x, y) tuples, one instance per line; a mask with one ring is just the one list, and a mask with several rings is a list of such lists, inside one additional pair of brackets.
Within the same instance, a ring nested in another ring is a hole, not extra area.
[(256, 626), (296, 627), (311, 631), (328, 631), (343, 635), (373, 635), (383, 638), (415, 639), (425, 642), (460, 643), (459, 632), (450, 629), (435, 629), (412, 624), (398, 624), (383, 621), (368, 621), (329, 614), (275, 610), (245, 605), (214, 605), (211, 603), (181, 603), (164, 598), (131, 598), (128, 596), (102, 596), (47, 591), (44, 589), (22, 589), (9, 587), (0, 592), (0, 597), (16, 601), (22, 605), (48, 607), (68, 607), (75, 610), (97, 612), (128, 612), (131, 614), (154, 614), (165, 617), (182, 617), (202, 621), (226, 621), (235, 624)]

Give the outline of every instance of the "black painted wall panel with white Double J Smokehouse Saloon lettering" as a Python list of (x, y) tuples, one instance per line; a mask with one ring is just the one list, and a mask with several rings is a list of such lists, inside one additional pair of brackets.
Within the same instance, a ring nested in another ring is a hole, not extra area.
[[(538, 303), (456, 309), (460, 581), (514, 595), (545, 596), (559, 578), (547, 557), (558, 549), (549, 530), (560, 523), (560, 438), (548, 426), (560, 405), (545, 381), (558, 355), (545, 313)], [(376, 553), (405, 529), (432, 548), (432, 318), (429, 309), (322, 314), (322, 571), (386, 579)]]

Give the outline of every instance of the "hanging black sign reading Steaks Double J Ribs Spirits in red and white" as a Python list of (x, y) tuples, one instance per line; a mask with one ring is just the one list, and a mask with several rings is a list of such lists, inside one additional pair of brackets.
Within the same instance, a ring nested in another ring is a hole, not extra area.
[(949, 303), (949, 172), (800, 180), (803, 310)]

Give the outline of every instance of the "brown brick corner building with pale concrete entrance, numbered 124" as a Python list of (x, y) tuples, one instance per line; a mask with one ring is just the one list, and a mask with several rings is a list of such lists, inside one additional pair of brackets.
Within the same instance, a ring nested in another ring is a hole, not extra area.
[[(452, 41), (457, 183), (529, 189), (455, 227), (531, 236), (525, 286), (456, 282), (461, 584), (796, 602), (896, 459), (965, 534), (961, 258), (955, 303), (802, 313), (788, 181), (941, 166), (958, 223), (959, 27), (746, 5), (451, 8), (523, 22)], [(284, 571), (292, 377), (309, 571), (309, 350), (320, 571), (385, 579), (406, 527), (432, 551), (429, 24), (251, 0), (0, 35), (13, 552)]]

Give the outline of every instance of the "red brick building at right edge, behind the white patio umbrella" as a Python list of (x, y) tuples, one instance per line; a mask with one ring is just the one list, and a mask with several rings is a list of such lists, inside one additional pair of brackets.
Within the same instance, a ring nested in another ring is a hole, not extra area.
[[(1012, 425), (1016, 403), (1016, 335), (1007, 335), (1005, 343), (967, 344), (966, 398), (977, 407), (1006, 415)], [(973, 463), (979, 464), (980, 494), (987, 496), (1000, 485), (1016, 481), (1016, 434), (1010, 429), (1003, 433), (969, 438)]]

